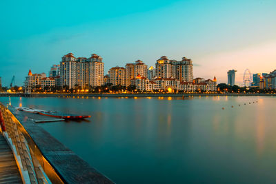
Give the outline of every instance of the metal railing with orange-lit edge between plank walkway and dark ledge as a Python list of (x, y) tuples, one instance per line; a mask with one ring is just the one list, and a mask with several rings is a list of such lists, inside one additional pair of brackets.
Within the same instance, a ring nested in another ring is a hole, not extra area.
[[(23, 183), (63, 183), (54, 168), (43, 157), (37, 145), (15, 116), (0, 103), (4, 125), (2, 134), (12, 143)], [(6, 127), (6, 132), (3, 132)], [(15, 149), (14, 149), (15, 148)]]

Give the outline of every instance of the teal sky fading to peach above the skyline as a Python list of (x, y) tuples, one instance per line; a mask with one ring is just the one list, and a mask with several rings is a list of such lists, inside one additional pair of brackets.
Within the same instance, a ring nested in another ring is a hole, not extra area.
[(227, 83), (235, 69), (276, 69), (275, 0), (0, 1), (0, 76), (23, 85), (28, 70), (45, 72), (64, 54), (99, 54), (105, 73), (166, 55), (193, 60), (194, 77)]

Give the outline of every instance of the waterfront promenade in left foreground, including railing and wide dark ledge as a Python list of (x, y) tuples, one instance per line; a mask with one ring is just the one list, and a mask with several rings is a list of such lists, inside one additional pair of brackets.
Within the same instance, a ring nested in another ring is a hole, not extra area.
[[(112, 183), (34, 123), (34, 114), (23, 114), (1, 103), (0, 108), (3, 114), (0, 145), (5, 148), (5, 152), (0, 152), (0, 182), (8, 182), (10, 178), (19, 183), (21, 179), (23, 183)], [(5, 165), (10, 173), (2, 167)]]

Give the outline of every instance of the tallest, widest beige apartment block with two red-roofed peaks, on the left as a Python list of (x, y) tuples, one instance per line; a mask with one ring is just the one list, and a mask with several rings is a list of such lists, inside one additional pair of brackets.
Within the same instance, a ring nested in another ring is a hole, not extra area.
[(88, 59), (66, 54), (60, 63), (61, 86), (88, 88), (103, 85), (103, 65), (102, 58), (97, 54), (92, 54)]

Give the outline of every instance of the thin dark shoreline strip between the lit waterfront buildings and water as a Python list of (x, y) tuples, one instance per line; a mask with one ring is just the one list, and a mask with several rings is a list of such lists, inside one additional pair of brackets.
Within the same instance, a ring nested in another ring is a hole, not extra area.
[(110, 93), (90, 93), (90, 94), (81, 94), (81, 93), (53, 93), (53, 94), (43, 94), (43, 93), (32, 93), (32, 94), (24, 94), (24, 93), (0, 93), (0, 97), (188, 97), (188, 96), (276, 96), (276, 94), (266, 94), (266, 93), (210, 93), (210, 94), (202, 94), (202, 93), (118, 93), (118, 94), (110, 94)]

